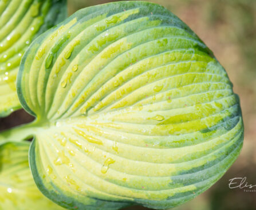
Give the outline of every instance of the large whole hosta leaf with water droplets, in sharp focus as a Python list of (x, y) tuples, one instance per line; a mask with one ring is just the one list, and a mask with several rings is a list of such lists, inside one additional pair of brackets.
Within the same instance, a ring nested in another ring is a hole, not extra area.
[(214, 184), (242, 147), (225, 70), (152, 3), (88, 7), (41, 35), (23, 56), (18, 95), (37, 117), (34, 179), (69, 209), (174, 207)]

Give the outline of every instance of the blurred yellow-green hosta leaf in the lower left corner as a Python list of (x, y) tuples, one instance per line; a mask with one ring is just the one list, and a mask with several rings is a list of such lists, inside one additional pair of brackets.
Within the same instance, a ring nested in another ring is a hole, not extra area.
[(0, 146), (0, 209), (64, 209), (38, 190), (29, 169), (29, 143)]

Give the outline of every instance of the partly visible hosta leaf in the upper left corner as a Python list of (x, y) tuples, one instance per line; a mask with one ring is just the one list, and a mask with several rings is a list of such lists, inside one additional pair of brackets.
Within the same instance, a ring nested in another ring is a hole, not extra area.
[(66, 0), (0, 1), (0, 117), (21, 108), (16, 76), (34, 38), (66, 17)]

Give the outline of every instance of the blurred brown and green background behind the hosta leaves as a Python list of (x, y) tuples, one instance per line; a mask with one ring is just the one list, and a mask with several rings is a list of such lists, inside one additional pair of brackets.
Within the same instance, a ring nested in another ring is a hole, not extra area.
[[(83, 7), (112, 1), (68, 0), (69, 14)], [(206, 43), (225, 67), (240, 96), (245, 140), (241, 155), (210, 189), (173, 210), (255, 210), (256, 192), (228, 187), (234, 177), (256, 184), (256, 0), (155, 0), (171, 10)], [(0, 130), (30, 122), (18, 111), (0, 119)], [(256, 189), (256, 188), (254, 188)], [(130, 207), (125, 210), (145, 210)]]

